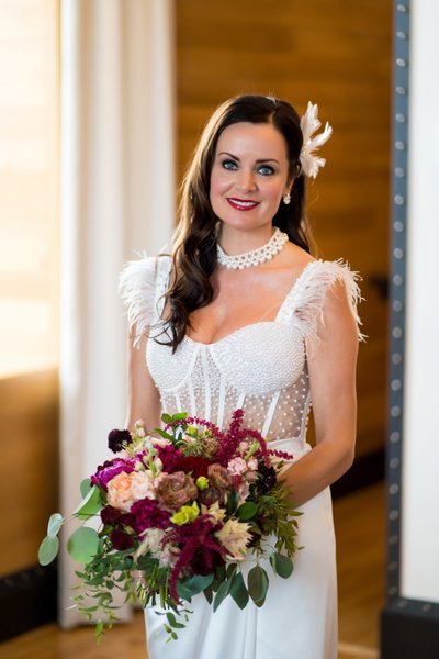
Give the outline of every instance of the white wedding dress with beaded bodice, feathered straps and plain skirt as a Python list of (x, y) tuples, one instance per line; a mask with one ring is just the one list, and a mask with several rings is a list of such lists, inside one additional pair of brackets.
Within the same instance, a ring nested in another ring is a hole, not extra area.
[[(121, 280), (137, 335), (151, 326), (146, 361), (162, 411), (188, 412), (226, 427), (232, 412), (241, 407), (245, 426), (257, 428), (270, 447), (300, 459), (312, 450), (306, 444), (311, 394), (305, 338), (316, 337), (318, 316), (336, 280), (345, 282), (359, 322), (354, 275), (339, 261), (312, 261), (274, 321), (252, 323), (207, 345), (187, 337), (172, 355), (171, 348), (153, 338), (160, 332), (157, 323), (170, 265), (169, 257), (132, 261)], [(270, 585), (262, 607), (250, 601), (241, 611), (227, 597), (212, 613), (204, 595), (198, 595), (188, 626), (169, 644), (164, 616), (149, 608), (145, 612), (149, 659), (336, 659), (337, 580), (329, 488), (300, 510), (303, 549), (286, 580), (266, 567)]]

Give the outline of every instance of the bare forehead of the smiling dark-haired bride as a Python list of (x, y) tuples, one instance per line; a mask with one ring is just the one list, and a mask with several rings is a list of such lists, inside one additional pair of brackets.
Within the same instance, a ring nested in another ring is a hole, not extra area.
[(285, 139), (271, 123), (239, 122), (224, 129), (219, 135), (216, 154), (227, 152), (234, 156), (255, 155), (257, 158), (285, 158)]

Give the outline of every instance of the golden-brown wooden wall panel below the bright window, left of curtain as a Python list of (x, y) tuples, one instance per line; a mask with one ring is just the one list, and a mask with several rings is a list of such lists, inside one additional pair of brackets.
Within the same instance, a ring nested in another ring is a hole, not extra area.
[(56, 511), (58, 379), (56, 371), (0, 379), (0, 577), (37, 562)]

